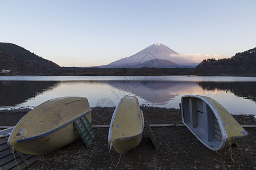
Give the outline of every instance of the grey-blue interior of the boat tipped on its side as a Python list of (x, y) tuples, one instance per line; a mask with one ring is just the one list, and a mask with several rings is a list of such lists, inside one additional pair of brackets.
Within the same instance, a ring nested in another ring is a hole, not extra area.
[(184, 124), (205, 145), (215, 149), (221, 145), (222, 135), (212, 109), (205, 101), (196, 97), (183, 98)]

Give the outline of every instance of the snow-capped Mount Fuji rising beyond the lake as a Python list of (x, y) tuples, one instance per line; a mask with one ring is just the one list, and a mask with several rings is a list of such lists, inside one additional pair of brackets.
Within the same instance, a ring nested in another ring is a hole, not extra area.
[(120, 68), (120, 67), (195, 67), (195, 63), (179, 58), (179, 53), (168, 48), (168, 46), (155, 43), (130, 57), (118, 59), (108, 65), (98, 66), (100, 68)]

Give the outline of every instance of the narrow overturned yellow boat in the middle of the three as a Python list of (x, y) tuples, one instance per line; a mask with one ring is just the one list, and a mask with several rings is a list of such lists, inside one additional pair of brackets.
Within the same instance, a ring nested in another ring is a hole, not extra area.
[(143, 112), (135, 96), (124, 96), (112, 116), (109, 128), (109, 147), (123, 154), (139, 145), (144, 129)]

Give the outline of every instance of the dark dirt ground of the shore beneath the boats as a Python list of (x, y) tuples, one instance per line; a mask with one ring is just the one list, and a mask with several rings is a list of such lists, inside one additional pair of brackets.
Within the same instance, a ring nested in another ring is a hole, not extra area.
[[(179, 109), (141, 107), (150, 124), (182, 124)], [(0, 126), (14, 126), (30, 109), (0, 111)], [(109, 125), (114, 108), (93, 108), (92, 125)], [(241, 125), (256, 125), (253, 116), (233, 115)], [(245, 128), (249, 135), (239, 146), (217, 153), (209, 150), (185, 127), (151, 128), (158, 150), (144, 130), (142, 141), (121, 155), (115, 167), (108, 150), (108, 128), (94, 128), (96, 137), (86, 148), (81, 138), (44, 155), (25, 169), (256, 169), (256, 128)], [(114, 164), (119, 154), (110, 151)], [(226, 154), (225, 154), (226, 153)], [(233, 161), (233, 160), (234, 161)], [(46, 162), (44, 162), (44, 160)]]

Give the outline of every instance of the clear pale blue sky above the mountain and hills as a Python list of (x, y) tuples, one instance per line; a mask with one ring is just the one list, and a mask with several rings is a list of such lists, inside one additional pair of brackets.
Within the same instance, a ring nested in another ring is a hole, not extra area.
[(106, 65), (154, 43), (232, 57), (256, 46), (256, 1), (0, 1), (0, 42), (60, 66)]

